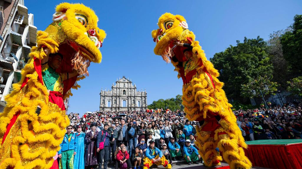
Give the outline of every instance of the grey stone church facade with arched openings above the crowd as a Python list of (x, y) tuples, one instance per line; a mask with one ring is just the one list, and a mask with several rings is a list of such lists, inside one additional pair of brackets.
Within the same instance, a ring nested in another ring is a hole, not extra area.
[(147, 109), (146, 89), (137, 91), (136, 85), (132, 81), (120, 78), (112, 84), (111, 90), (101, 89), (100, 111), (135, 111)]

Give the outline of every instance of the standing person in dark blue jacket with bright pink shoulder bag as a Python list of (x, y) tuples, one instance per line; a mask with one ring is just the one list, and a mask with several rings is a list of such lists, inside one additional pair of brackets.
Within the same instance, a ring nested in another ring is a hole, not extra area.
[[(98, 132), (98, 137), (97, 137), (97, 152), (100, 152), (100, 160), (98, 162), (98, 168), (101, 169), (102, 168), (102, 163), (103, 163), (103, 159), (104, 159), (104, 169), (107, 169), (107, 165), (108, 165), (108, 160), (109, 160), (109, 144), (110, 144), (110, 140), (112, 140), (112, 136), (113, 136), (113, 131), (111, 131), (111, 133), (109, 133), (108, 131), (108, 127), (109, 125), (106, 123), (104, 124), (104, 129), (101, 130), (100, 132)], [(104, 148), (103, 149), (99, 149), (99, 145), (101, 142), (104, 142)]]

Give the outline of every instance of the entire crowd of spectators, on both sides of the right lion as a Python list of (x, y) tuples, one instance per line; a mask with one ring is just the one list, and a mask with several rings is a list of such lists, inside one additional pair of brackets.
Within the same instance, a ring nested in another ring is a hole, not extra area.
[[(287, 103), (267, 109), (260, 107), (233, 112), (246, 141), (300, 139), (301, 106), (301, 102)], [(171, 165), (181, 159), (188, 164), (198, 164), (202, 160), (194, 145), (194, 126), (199, 123), (188, 121), (183, 111), (105, 111), (85, 113), (82, 117), (78, 113), (70, 113), (69, 119), (70, 126), (66, 128), (64, 140), (69, 141), (68, 146), (73, 139), (76, 144), (72, 151), (75, 169), (81, 166), (90, 169), (97, 165), (101, 168), (102, 164), (107, 168), (108, 163), (113, 163), (115, 168), (140, 169), (144, 157), (164, 166), (163, 156)], [(75, 137), (70, 136), (73, 133)], [(69, 150), (64, 148), (64, 140), (59, 157), (68, 164), (70, 159), (63, 157), (63, 153)]]

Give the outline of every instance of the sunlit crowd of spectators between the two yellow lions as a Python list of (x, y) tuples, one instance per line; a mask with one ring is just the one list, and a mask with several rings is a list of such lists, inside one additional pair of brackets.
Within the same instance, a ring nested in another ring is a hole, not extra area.
[[(198, 122), (188, 121), (182, 111), (147, 109), (89, 112), (82, 117), (77, 113), (70, 113), (68, 116), (70, 126), (66, 128), (66, 138), (71, 137), (72, 133), (77, 137), (83, 136), (82, 140), (76, 140), (74, 167), (84, 164), (89, 169), (97, 165), (101, 168), (103, 164), (107, 168), (108, 163), (113, 163), (116, 168), (127, 166), (126, 168), (140, 169), (144, 157), (164, 166), (166, 164), (161, 161), (162, 156), (171, 165), (173, 161), (183, 158), (188, 164), (198, 164), (201, 159), (194, 144), (194, 126)], [(100, 143), (103, 144), (102, 149)], [(79, 145), (84, 145), (81, 157), (78, 157), (79, 150), (76, 150)], [(158, 154), (154, 155), (153, 152)], [(62, 155), (59, 157), (68, 164), (66, 158)]]

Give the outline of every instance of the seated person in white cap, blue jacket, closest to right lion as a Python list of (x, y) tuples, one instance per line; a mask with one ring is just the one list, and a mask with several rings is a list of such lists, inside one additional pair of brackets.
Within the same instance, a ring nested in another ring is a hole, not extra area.
[(191, 145), (191, 140), (186, 140), (186, 145), (184, 146), (184, 157), (189, 165), (191, 163), (198, 164), (198, 160), (201, 156), (198, 154), (198, 150)]

